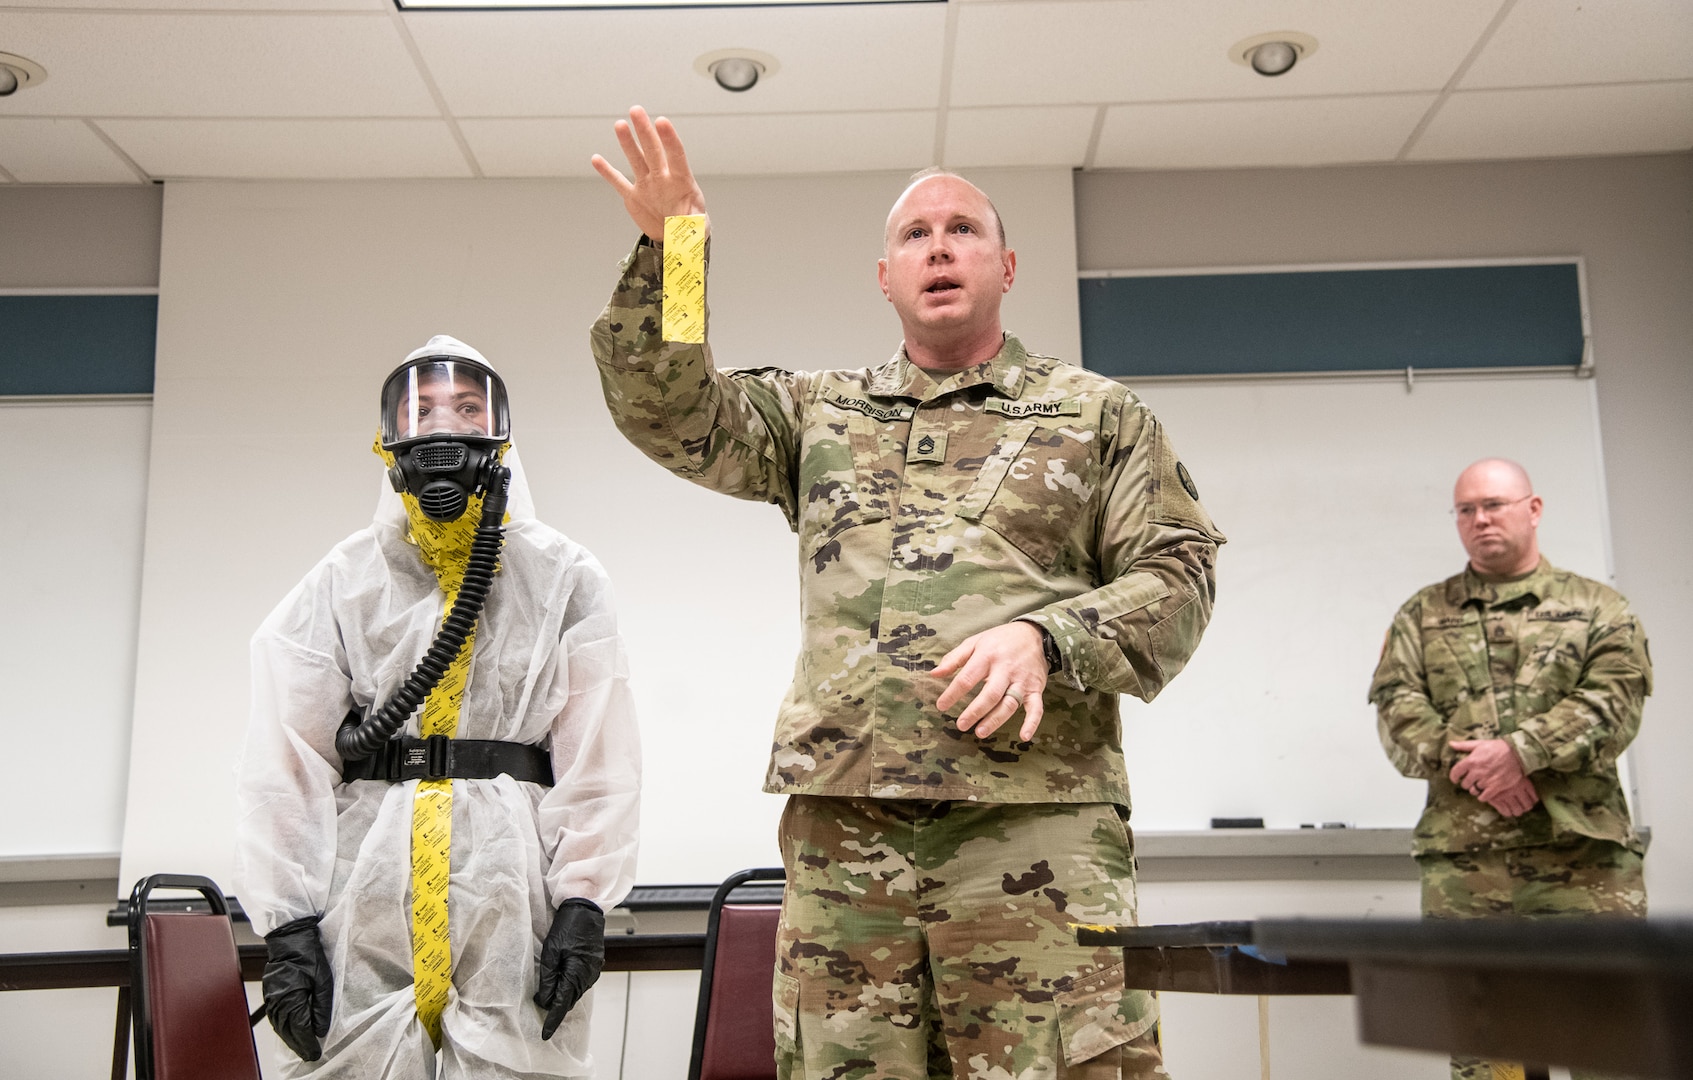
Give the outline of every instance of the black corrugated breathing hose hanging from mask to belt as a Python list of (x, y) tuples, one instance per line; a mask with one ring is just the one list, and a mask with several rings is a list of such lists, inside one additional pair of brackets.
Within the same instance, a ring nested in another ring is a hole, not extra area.
[(510, 494), (511, 471), (505, 466), (494, 466), (483, 496), (483, 518), (476, 523), (476, 538), (471, 540), (471, 559), (464, 567), (464, 582), (459, 586), (457, 599), (452, 601), (452, 611), (442, 621), (428, 652), (381, 709), (362, 719), (354, 709), (347, 719), (340, 721), (340, 730), (335, 731), (335, 752), (344, 762), (357, 762), (381, 750), (406, 723), (406, 718), (416, 711), (423, 697), (435, 689), (440, 677), (447, 674), (447, 665), (464, 648), (464, 640), (471, 636), (476, 618), (483, 613), (488, 589), (494, 584), (499, 545), (506, 538), (505, 520)]

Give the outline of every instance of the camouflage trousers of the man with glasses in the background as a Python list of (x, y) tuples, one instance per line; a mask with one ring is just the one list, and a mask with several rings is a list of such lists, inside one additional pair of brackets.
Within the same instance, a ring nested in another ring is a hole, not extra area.
[[(1419, 855), (1422, 914), (1431, 919), (1646, 917), (1644, 860), (1620, 843)], [(1453, 1080), (1520, 1077), (1519, 1066), (1453, 1056)], [(1602, 1073), (1571, 1070), (1573, 1080)]]

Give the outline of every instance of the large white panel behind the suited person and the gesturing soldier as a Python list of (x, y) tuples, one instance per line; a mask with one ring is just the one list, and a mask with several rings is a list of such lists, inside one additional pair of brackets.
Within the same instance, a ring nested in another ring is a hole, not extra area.
[[(1007, 323), (1075, 355), (1068, 173), (980, 179), (1019, 247)], [(892, 355), (875, 259), (901, 186), (709, 183), (720, 362)], [(598, 179), (168, 188), (122, 880), (229, 879), (247, 638), (369, 521), (378, 388), (432, 333), (501, 369), (540, 516), (618, 589), (647, 762), (640, 880), (775, 862), (780, 801), (758, 785), (797, 642), (796, 554), (779, 511), (694, 489), (613, 430), (587, 327), (637, 235)]]

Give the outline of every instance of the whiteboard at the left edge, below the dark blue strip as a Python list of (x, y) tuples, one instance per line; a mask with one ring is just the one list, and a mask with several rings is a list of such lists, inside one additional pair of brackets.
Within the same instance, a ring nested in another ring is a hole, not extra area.
[[(147, 398), (0, 401), (0, 857), (124, 836)], [(68, 794), (69, 792), (69, 794)]]

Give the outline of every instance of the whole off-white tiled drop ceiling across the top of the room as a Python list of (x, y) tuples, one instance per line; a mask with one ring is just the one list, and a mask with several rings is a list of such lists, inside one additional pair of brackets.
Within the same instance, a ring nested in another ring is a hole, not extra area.
[[(1270, 32), (1319, 42), (1265, 78)], [(743, 93), (698, 69), (779, 66)], [(406, 10), (0, 0), (0, 181), (591, 176), (611, 122), (706, 174), (1216, 169), (1693, 149), (1686, 0), (948, 0)]]

